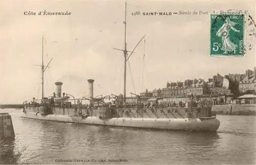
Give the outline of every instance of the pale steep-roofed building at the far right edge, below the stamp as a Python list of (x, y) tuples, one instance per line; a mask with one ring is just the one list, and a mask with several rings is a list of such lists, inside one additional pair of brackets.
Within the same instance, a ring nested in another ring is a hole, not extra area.
[(246, 91), (256, 91), (256, 67), (253, 71), (247, 69), (245, 71), (245, 77), (239, 83), (240, 93), (245, 93)]

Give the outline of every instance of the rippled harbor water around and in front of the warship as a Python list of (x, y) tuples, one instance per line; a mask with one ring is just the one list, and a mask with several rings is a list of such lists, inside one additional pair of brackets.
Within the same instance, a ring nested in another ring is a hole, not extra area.
[[(255, 164), (256, 116), (218, 115), (216, 133), (92, 126), (12, 117), (0, 163)], [(5, 147), (8, 147), (9, 151)]]

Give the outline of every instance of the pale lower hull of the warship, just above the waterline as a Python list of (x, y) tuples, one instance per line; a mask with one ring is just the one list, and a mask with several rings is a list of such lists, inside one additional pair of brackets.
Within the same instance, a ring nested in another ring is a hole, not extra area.
[(151, 128), (166, 130), (188, 130), (188, 131), (217, 131), (220, 126), (218, 119), (188, 119), (188, 118), (111, 118), (102, 119), (98, 116), (82, 118), (70, 115), (40, 115), (40, 113), (28, 112), (25, 118), (48, 120), (66, 123), (81, 123), (89, 125), (105, 125), (115, 127)]

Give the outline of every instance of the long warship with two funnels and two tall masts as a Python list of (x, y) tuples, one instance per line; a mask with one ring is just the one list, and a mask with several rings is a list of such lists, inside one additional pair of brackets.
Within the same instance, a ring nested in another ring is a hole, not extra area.
[[(105, 125), (115, 127), (135, 127), (166, 130), (217, 131), (220, 121), (211, 113), (211, 103), (198, 101), (193, 93), (182, 103), (162, 104), (164, 97), (141, 97), (135, 95), (134, 102), (126, 102), (126, 62), (133, 51), (126, 49), (126, 3), (124, 21), (124, 89), (123, 95), (94, 97), (94, 79), (88, 79), (89, 97), (75, 98), (71, 94), (61, 93), (63, 82), (55, 82), (56, 93), (44, 97), (44, 72), (50, 62), (44, 66), (44, 37), (42, 37), (42, 97), (23, 102), (25, 118), (49, 120), (67, 123)], [(128, 54), (128, 52), (131, 52)], [(72, 98), (71, 98), (72, 97)], [(87, 102), (89, 103), (86, 103)]]

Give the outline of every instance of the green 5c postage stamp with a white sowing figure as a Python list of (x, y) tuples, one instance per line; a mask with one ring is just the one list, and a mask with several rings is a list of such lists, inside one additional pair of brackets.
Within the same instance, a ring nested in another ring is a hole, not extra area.
[(244, 14), (210, 14), (210, 56), (244, 56)]

